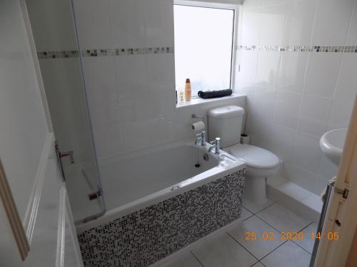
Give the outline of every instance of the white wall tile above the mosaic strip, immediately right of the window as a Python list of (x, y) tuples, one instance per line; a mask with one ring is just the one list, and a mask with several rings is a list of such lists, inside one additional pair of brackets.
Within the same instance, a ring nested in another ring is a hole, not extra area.
[(259, 43), (261, 11), (260, 7), (243, 6), (241, 38), (239, 40), (241, 46), (253, 46)]

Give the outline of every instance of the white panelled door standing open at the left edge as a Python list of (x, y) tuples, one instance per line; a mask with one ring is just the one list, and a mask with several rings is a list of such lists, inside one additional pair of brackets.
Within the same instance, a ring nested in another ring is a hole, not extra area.
[(24, 9), (0, 1), (0, 266), (82, 266)]

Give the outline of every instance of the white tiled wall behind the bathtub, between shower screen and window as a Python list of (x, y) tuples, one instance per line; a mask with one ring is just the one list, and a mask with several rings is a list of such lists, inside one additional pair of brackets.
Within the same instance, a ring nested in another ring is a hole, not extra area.
[[(168, 53), (98, 53), (83, 58), (104, 189), (111, 187), (111, 179), (120, 179), (106, 162), (146, 147), (193, 137), (191, 123), (196, 120), (191, 119), (192, 113), (204, 115), (219, 105), (244, 107), (242, 97), (176, 108), (172, 1), (74, 0), (74, 11), (81, 50), (169, 48)], [(107, 207), (112, 206), (107, 203)]]

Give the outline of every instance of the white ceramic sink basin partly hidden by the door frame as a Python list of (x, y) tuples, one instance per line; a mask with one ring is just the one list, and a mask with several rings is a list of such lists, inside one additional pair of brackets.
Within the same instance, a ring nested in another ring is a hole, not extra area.
[(347, 128), (325, 132), (320, 138), (322, 152), (337, 165), (340, 164)]

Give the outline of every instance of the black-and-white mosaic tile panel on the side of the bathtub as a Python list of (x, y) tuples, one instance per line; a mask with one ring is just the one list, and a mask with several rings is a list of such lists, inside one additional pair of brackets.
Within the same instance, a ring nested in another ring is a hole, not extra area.
[(86, 267), (144, 267), (241, 216), (246, 169), (79, 234)]

